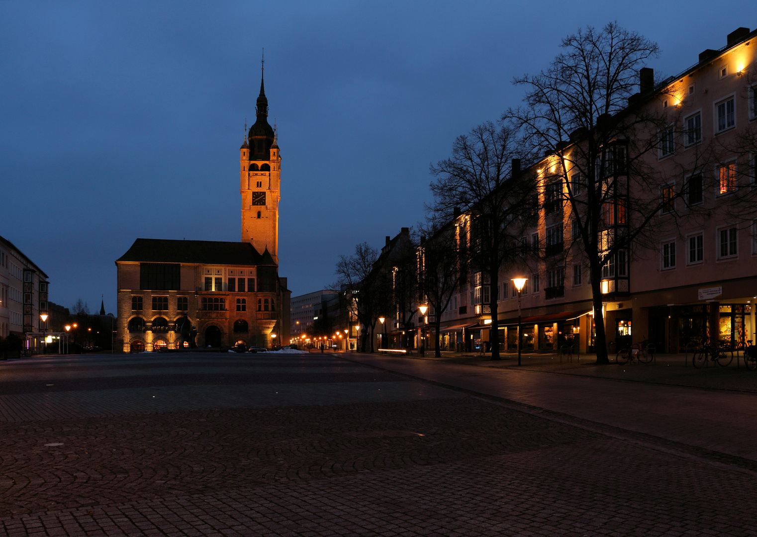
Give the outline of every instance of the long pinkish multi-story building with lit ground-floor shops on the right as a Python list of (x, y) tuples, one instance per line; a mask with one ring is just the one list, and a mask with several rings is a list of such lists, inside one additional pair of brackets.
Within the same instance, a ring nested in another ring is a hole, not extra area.
[[(703, 51), (678, 76), (654, 84), (652, 70), (644, 69), (639, 94), (619, 113), (641, 110), (667, 123), (644, 140), (655, 149), (643, 157), (646, 169), (665, 180), (641, 187), (625, 166), (610, 172), (615, 182), (628, 185), (626, 203), (660, 202), (650, 224), (655, 234), (619, 250), (601, 269), (611, 351), (644, 339), (666, 352), (683, 352), (701, 337), (731, 343), (754, 339), (757, 204), (749, 193), (757, 185), (755, 49), (757, 31), (740, 28), (727, 36), (727, 45)], [(749, 139), (751, 146), (745, 145)], [(560, 151), (569, 154), (571, 144), (580, 143), (578, 136)], [(615, 155), (625, 159), (622, 151)], [(496, 288), (481, 273), (469, 275), (441, 315), (443, 348), (486, 348), (490, 305), (496, 301), (500, 349), (517, 349), (519, 297), (512, 284), (517, 276), (527, 278), (520, 296), (522, 349), (548, 352), (578, 345), (581, 352), (595, 350), (589, 268), (573, 244), (572, 206), (563, 203), (568, 184), (565, 176), (550, 175), (555, 166), (550, 155), (523, 170), (537, 178), (541, 203), (538, 224), (525, 231), (522, 244), (539, 250), (540, 260), (503, 268)], [(581, 199), (586, 195), (581, 178), (571, 173), (571, 185), (578, 187), (571, 195)], [(603, 230), (627, 223), (621, 206), (628, 205), (615, 203), (615, 212), (601, 223)], [(469, 214), (456, 216), (455, 223), (463, 235), (471, 233)]]

